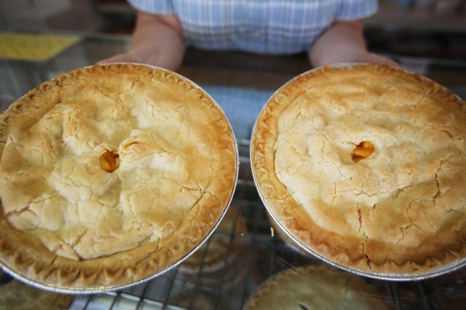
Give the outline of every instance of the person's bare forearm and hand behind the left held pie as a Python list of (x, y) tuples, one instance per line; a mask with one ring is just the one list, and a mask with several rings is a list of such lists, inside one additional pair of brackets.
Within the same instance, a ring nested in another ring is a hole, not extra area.
[(176, 16), (138, 12), (130, 50), (97, 64), (136, 62), (176, 70), (183, 60), (184, 50), (183, 33)]

